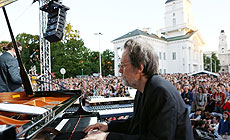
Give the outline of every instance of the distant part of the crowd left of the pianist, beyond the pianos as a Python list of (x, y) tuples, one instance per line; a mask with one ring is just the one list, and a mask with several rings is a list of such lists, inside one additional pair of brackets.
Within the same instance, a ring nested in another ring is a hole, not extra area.
[[(122, 83), (120, 77), (84, 76), (82, 78), (55, 79), (51, 84), (51, 90), (82, 90), (86, 97), (125, 97), (129, 96), (128, 87)], [(34, 90), (39, 91), (40, 85), (35, 83)]]

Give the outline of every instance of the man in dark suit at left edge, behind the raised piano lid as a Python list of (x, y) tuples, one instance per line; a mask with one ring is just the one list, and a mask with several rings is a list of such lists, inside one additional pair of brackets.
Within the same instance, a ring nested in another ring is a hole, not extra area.
[[(19, 42), (16, 44), (20, 53), (22, 45)], [(8, 43), (3, 50), (5, 52), (0, 56), (0, 92), (22, 92), (22, 79), (13, 43)]]

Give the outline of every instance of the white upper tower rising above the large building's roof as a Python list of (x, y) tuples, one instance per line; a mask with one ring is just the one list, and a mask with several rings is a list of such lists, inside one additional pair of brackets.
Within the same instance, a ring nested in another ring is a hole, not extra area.
[(190, 0), (167, 0), (165, 2), (165, 27), (161, 33), (166, 38), (185, 35), (195, 31), (193, 26), (192, 3)]

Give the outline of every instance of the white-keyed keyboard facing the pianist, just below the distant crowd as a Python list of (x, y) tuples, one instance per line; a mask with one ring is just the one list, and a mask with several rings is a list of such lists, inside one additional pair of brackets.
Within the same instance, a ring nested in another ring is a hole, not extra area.
[(100, 105), (100, 106), (84, 106), (87, 112), (98, 112), (100, 118), (116, 117), (116, 116), (132, 116), (133, 103), (131, 104), (115, 104), (115, 105)]

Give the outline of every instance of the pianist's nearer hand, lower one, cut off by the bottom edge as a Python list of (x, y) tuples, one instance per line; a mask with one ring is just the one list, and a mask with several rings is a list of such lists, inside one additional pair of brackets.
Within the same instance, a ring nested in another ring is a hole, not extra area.
[(109, 132), (89, 131), (89, 134), (82, 140), (106, 140), (108, 134)]

